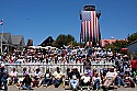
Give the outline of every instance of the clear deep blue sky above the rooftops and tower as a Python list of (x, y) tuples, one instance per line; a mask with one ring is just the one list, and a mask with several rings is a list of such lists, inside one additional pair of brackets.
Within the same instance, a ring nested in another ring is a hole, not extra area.
[[(102, 38), (126, 38), (137, 32), (137, 0), (0, 0), (4, 33), (41, 44), (49, 35), (71, 34), (79, 42), (79, 12), (87, 4), (101, 10)], [(1, 31), (1, 26), (0, 26)]]

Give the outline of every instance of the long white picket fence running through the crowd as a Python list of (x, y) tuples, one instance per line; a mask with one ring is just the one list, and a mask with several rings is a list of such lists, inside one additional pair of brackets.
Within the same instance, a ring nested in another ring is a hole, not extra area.
[[(114, 64), (92, 64), (92, 69), (102, 69), (102, 68), (109, 68), (110, 66), (113, 66)], [(46, 69), (49, 68), (52, 73), (56, 70), (56, 67), (59, 67), (60, 70), (66, 73), (67, 68), (72, 68), (73, 66), (78, 67), (78, 70), (80, 73), (83, 73), (83, 64), (5, 64), (5, 70), (10, 73), (13, 68), (16, 68), (18, 75), (21, 76), (23, 73), (23, 68), (26, 67), (30, 75), (33, 75), (35, 72), (35, 69), (38, 67), (44, 75), (46, 72)]]

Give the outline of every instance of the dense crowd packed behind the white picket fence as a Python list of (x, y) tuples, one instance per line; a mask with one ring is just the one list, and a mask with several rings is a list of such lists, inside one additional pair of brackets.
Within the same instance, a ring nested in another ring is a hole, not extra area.
[[(3, 62), (9, 64), (76, 64), (76, 62), (82, 62), (87, 55), (91, 56), (92, 61), (102, 61), (104, 60), (111, 60), (114, 61), (114, 57), (116, 57), (118, 54), (114, 54), (111, 48), (105, 49), (101, 47), (67, 47), (67, 48), (52, 48), (48, 47), (48, 49), (45, 48), (33, 48), (27, 47), (23, 50), (14, 49), (13, 53), (8, 55), (8, 53), (3, 53), (0, 56), (0, 60)], [(123, 56), (123, 55), (121, 55)]]

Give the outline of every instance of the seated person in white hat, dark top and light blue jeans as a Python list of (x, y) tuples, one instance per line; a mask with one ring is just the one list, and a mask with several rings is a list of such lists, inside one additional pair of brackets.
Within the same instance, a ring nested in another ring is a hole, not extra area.
[(79, 73), (77, 67), (75, 66), (70, 72), (70, 86), (73, 91), (77, 90), (79, 80), (80, 80), (80, 73)]

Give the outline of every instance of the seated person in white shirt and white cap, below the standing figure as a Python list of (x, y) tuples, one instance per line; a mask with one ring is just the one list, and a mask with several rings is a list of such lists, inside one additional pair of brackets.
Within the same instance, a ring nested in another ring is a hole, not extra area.
[(85, 71), (84, 75), (81, 77), (80, 79), (80, 86), (81, 86), (81, 90), (82, 90), (82, 87), (83, 86), (87, 86), (88, 87), (88, 90), (90, 90), (90, 84), (91, 84), (91, 78), (90, 76), (88, 75), (88, 72)]

